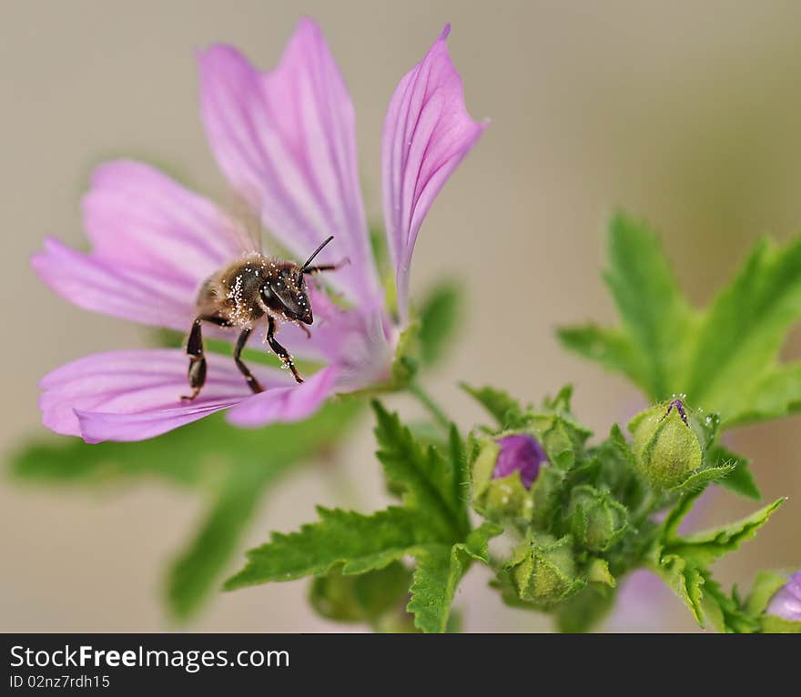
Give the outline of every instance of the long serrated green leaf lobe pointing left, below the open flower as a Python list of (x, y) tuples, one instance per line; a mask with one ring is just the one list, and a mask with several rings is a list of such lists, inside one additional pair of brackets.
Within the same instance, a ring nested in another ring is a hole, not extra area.
[(318, 513), (319, 522), (289, 535), (273, 533), (269, 543), (248, 551), (248, 564), (225, 589), (321, 576), (340, 566), (344, 574), (381, 569), (411, 548), (436, 541), (419, 516), (399, 507), (370, 516), (321, 507)]

